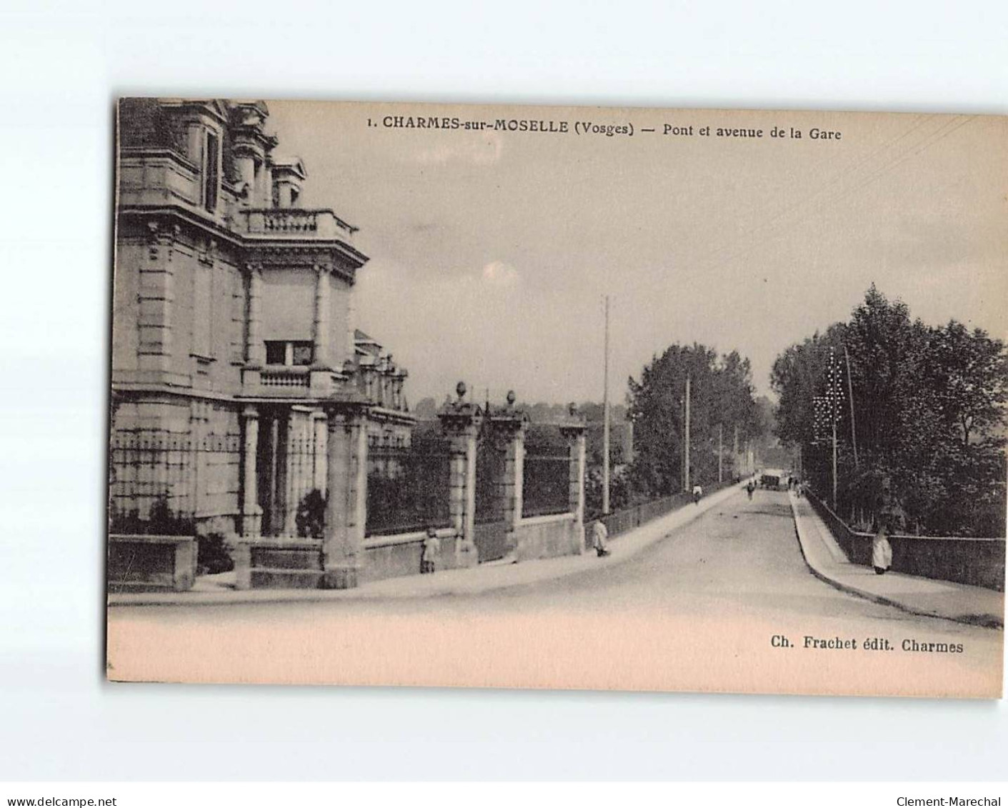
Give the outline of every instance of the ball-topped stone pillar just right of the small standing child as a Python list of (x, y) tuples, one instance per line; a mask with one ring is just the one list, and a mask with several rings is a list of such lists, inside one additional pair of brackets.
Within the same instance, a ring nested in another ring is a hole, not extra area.
[(476, 438), (480, 430), (480, 408), (465, 401), (466, 385), (459, 382), (458, 401), (437, 414), (449, 441), (449, 517), (458, 535), (456, 563), (475, 566), (476, 551)]

